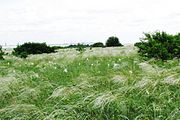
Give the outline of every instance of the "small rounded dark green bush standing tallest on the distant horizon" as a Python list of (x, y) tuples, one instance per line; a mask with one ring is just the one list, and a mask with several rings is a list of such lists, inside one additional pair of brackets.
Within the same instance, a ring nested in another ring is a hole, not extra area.
[(108, 40), (106, 41), (106, 46), (107, 47), (115, 47), (115, 46), (123, 46), (117, 37), (109, 37)]

